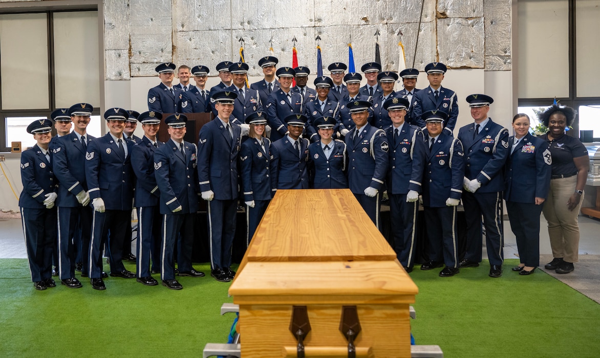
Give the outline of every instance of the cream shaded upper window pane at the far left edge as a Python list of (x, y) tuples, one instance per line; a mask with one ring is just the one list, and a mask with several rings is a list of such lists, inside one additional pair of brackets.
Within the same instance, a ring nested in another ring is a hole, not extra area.
[(49, 107), (47, 33), (46, 14), (0, 15), (2, 109)]

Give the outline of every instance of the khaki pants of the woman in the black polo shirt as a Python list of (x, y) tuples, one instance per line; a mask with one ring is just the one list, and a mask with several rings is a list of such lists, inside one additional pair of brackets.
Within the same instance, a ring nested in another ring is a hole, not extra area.
[(548, 235), (553, 257), (567, 262), (577, 262), (579, 254), (579, 223), (577, 216), (583, 203), (570, 211), (566, 205), (577, 186), (577, 175), (550, 180), (548, 198), (544, 201), (544, 216), (548, 221)]

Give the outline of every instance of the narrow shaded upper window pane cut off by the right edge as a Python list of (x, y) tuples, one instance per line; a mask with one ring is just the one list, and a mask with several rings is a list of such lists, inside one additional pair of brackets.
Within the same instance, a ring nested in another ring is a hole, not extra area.
[(590, 76), (596, 72), (600, 58), (600, 0), (575, 1), (575, 19), (577, 97), (600, 97), (596, 76)]

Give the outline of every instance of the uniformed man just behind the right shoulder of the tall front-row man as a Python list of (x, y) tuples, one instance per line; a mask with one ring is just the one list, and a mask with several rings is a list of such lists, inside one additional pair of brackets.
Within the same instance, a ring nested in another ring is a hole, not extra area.
[(246, 87), (248, 64), (244, 64), (244, 62), (232, 64), (229, 66), (229, 72), (233, 77), (233, 85), (226, 88), (225, 91), (233, 91), (238, 94), (233, 103), (232, 116), (238, 119), (238, 124), (248, 124), (249, 115), (263, 110), (259, 91)]

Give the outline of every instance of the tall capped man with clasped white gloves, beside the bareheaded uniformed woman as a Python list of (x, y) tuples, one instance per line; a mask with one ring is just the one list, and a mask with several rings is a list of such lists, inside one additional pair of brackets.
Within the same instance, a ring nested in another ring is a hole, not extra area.
[(466, 191), (462, 199), (467, 221), (466, 252), (458, 266), (475, 267), (481, 262), (483, 216), (490, 276), (500, 277), (504, 260), (500, 204), (504, 189), (503, 167), (508, 157), (508, 130), (488, 117), (490, 104), (494, 102), (490, 96), (469, 95), (467, 102), (475, 122), (458, 131), (466, 157), (463, 178)]

